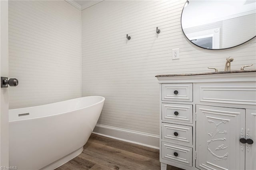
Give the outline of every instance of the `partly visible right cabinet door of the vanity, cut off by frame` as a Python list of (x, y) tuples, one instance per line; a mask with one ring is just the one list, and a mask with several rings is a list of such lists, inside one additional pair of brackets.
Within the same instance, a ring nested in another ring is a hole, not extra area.
[(245, 169), (256, 170), (256, 110), (246, 109), (246, 139), (252, 139), (253, 144), (245, 144)]

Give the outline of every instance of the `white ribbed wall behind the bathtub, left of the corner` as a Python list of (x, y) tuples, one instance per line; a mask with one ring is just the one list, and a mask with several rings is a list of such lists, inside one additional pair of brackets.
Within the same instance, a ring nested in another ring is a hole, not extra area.
[(9, 1), (9, 108), (80, 97), (80, 10), (62, 1)]

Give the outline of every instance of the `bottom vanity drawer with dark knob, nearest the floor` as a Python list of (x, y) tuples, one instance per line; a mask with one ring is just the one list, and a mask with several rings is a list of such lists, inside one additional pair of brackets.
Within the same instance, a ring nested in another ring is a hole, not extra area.
[(162, 159), (192, 166), (192, 148), (162, 142)]

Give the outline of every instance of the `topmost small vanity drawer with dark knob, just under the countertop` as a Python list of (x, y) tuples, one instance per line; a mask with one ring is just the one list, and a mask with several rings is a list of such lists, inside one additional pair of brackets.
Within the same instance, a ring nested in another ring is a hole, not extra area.
[(163, 83), (162, 101), (193, 101), (192, 83)]

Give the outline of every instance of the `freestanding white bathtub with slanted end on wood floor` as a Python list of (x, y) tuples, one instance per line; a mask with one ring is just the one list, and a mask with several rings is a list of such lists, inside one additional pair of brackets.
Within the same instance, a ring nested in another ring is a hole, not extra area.
[(10, 109), (9, 165), (18, 170), (50, 170), (78, 156), (100, 117), (104, 101), (104, 97), (90, 96)]

